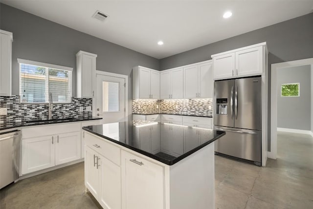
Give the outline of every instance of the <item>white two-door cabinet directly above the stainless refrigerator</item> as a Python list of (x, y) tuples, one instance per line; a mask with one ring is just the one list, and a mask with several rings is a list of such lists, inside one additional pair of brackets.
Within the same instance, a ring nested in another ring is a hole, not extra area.
[(261, 75), (265, 68), (266, 42), (214, 54), (214, 79)]

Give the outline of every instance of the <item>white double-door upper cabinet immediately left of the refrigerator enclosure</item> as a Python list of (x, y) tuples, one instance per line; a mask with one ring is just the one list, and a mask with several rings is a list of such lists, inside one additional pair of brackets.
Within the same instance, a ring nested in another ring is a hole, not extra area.
[(212, 98), (212, 62), (183, 68), (183, 98)]

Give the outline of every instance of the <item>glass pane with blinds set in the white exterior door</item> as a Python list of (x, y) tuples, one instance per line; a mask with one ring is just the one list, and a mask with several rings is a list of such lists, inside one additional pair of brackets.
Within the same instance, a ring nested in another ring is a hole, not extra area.
[(119, 83), (102, 82), (102, 110), (104, 112), (119, 111)]

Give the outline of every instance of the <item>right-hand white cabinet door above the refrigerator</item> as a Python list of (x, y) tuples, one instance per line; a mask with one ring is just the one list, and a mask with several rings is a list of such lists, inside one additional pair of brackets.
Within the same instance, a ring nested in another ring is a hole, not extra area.
[(261, 74), (263, 72), (263, 46), (236, 52), (236, 76)]

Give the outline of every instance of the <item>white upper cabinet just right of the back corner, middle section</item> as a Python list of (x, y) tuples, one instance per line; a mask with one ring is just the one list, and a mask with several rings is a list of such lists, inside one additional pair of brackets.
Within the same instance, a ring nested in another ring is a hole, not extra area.
[(161, 99), (180, 99), (183, 97), (182, 68), (161, 72)]

